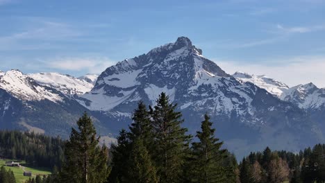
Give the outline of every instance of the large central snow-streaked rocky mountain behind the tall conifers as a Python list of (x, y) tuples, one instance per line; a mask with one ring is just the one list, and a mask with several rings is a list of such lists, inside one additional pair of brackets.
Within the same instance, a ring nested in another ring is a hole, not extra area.
[[(199, 129), (203, 114), (208, 112), (226, 146), (238, 155), (265, 144), (298, 150), (323, 138), (305, 111), (274, 96), (280, 95), (276, 89), (288, 86), (265, 76), (253, 80), (265, 82), (265, 88), (277, 88), (269, 93), (234, 78), (204, 58), (187, 37), (178, 37), (174, 43), (108, 67), (91, 92), (76, 99), (89, 110), (105, 114), (108, 128), (126, 128), (138, 101), (154, 105), (165, 92), (178, 104), (190, 132)], [(302, 139), (301, 134), (308, 139)]]

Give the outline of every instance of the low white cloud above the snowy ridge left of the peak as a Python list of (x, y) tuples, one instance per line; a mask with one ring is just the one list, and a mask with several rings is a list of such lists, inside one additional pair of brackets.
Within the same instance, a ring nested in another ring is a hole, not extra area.
[(41, 61), (49, 69), (101, 73), (116, 62), (108, 58), (55, 58)]

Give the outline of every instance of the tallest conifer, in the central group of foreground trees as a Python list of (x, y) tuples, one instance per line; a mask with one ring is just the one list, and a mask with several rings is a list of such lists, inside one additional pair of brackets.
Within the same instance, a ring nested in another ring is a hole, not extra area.
[(181, 112), (169, 103), (165, 93), (160, 94), (157, 105), (150, 114), (153, 125), (153, 159), (158, 168), (159, 182), (181, 182), (185, 157), (188, 155), (190, 136), (186, 128), (181, 128)]

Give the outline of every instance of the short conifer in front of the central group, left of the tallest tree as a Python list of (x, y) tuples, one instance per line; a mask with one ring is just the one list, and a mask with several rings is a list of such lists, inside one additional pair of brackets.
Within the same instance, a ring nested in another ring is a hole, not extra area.
[(130, 157), (128, 158), (127, 182), (134, 183), (156, 183), (156, 168), (151, 162), (148, 150), (142, 139), (135, 139), (132, 144)]

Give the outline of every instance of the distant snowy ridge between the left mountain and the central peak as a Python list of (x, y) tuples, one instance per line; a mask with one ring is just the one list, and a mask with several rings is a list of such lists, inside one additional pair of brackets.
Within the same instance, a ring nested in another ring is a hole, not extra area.
[(94, 87), (94, 77), (92, 76), (90, 76), (93, 79), (91, 82), (60, 73), (31, 73), (28, 76), (40, 85), (52, 87), (67, 95), (85, 94), (86, 92), (90, 92), (92, 87)]

